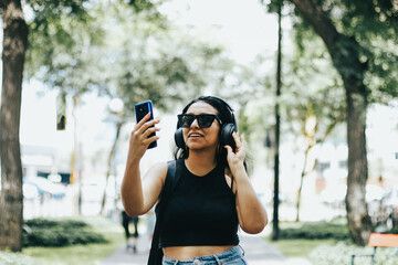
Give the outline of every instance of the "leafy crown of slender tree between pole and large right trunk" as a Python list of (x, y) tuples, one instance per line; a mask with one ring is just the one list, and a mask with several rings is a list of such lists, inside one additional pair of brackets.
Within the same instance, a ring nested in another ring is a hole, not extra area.
[(298, 47), (286, 56), (282, 116), (303, 135), (306, 118), (314, 115), (315, 138), (322, 139), (331, 125), (345, 119), (345, 93), (321, 40), (305, 40), (303, 44), (307, 49), (300, 52)]

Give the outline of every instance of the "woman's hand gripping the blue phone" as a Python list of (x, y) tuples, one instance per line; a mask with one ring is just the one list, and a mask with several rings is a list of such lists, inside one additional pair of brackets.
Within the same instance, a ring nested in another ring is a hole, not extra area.
[(147, 114), (142, 120), (139, 120), (139, 123), (134, 126), (129, 140), (129, 159), (139, 161), (144, 156), (145, 151), (147, 150), (148, 146), (159, 139), (157, 135), (151, 137), (149, 137), (149, 135), (160, 130), (160, 128), (155, 127), (155, 125), (158, 124), (160, 120), (149, 120), (149, 118), (150, 114)]

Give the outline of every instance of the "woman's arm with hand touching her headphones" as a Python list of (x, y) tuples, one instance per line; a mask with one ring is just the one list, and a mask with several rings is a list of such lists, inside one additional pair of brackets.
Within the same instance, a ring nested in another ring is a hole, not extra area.
[(268, 224), (268, 215), (250, 183), (243, 165), (245, 156), (243, 137), (241, 140), (238, 134), (233, 132), (233, 138), (237, 142), (237, 151), (233, 152), (230, 146), (226, 146), (226, 148), (228, 150), (227, 160), (229, 169), (235, 182), (234, 192), (237, 197), (238, 219), (244, 232), (256, 234), (263, 231)]

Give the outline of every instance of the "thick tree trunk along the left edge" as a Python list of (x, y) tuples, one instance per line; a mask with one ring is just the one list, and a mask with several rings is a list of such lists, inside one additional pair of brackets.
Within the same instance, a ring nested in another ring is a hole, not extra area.
[(0, 109), (0, 248), (22, 250), (23, 194), (22, 165), (19, 144), (22, 74), (28, 43), (28, 26), (21, 2), (4, 3), (3, 73)]

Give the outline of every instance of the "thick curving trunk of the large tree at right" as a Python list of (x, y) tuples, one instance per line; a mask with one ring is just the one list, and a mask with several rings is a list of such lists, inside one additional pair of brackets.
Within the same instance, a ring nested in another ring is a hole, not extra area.
[(359, 62), (359, 44), (337, 32), (332, 21), (314, 0), (292, 0), (324, 41), (334, 66), (342, 76), (347, 102), (348, 179), (346, 209), (350, 236), (365, 245), (371, 231), (365, 201), (367, 180), (365, 67)]

